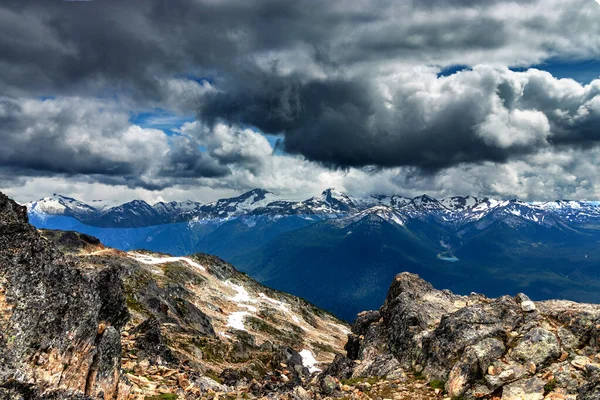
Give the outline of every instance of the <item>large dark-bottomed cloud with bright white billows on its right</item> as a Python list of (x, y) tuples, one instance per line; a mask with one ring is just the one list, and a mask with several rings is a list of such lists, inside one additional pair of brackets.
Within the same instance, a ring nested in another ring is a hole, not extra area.
[(207, 96), (200, 115), (285, 132), (288, 151), (338, 166), (437, 170), (600, 139), (600, 81), (583, 88), (536, 70), (407, 74), (385, 95), (360, 80), (243, 81)]

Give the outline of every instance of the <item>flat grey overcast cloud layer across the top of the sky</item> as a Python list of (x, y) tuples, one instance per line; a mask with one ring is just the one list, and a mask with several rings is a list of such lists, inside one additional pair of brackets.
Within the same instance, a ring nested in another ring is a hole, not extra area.
[[(512, 15), (497, 15), (492, 9), (502, 3), (506, 2), (5, 1), (0, 5), (0, 79), (13, 90), (108, 84), (152, 96), (157, 95), (161, 74), (198, 70), (235, 79), (261, 54), (296, 51), (298, 45), (306, 45), (309, 56), (323, 68), (349, 68), (368, 60), (445, 64), (463, 50), (516, 47), (523, 33), (531, 33), (533, 42), (540, 40), (538, 34), (547, 36), (547, 44), (541, 44), (548, 46), (562, 36), (569, 45), (580, 36), (578, 29), (593, 29), (563, 27), (585, 22), (565, 1), (564, 7), (550, 10), (560, 24), (551, 24), (545, 15), (514, 23)], [(533, 0), (508, 5), (530, 3)], [(589, 19), (593, 21), (593, 15)], [(527, 32), (533, 23), (539, 26)], [(528, 50), (512, 52), (519, 58)], [(488, 58), (497, 61), (498, 56)], [(308, 74), (301, 67), (297, 70)]]

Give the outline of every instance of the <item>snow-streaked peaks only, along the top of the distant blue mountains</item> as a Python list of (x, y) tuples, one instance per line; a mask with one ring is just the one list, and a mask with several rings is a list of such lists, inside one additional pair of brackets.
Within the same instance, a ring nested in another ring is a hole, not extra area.
[(547, 217), (579, 222), (600, 219), (600, 203), (591, 201), (523, 202), (473, 196), (438, 200), (427, 195), (412, 199), (397, 195), (355, 198), (335, 189), (327, 189), (304, 201), (280, 200), (269, 191), (254, 189), (237, 197), (206, 204), (187, 200), (150, 205), (143, 200), (133, 200), (114, 207), (96, 207), (54, 194), (26, 205), (30, 214), (41, 218), (45, 215), (62, 215), (76, 218), (86, 225), (106, 228), (138, 228), (218, 219), (225, 221), (243, 216), (306, 215), (329, 219), (369, 212), (393, 214), (397, 221), (432, 217), (457, 227), (481, 220), (490, 213), (514, 215), (539, 224), (545, 223)]

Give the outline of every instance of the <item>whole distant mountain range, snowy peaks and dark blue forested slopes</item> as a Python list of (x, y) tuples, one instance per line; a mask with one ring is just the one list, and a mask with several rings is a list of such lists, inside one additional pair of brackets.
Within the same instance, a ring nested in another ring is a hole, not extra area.
[(121, 250), (207, 252), (344, 319), (375, 308), (403, 271), (438, 288), (600, 302), (600, 203), (435, 199), (328, 189), (304, 201), (255, 189), (212, 203), (116, 207), (54, 195), (27, 204), (37, 227)]

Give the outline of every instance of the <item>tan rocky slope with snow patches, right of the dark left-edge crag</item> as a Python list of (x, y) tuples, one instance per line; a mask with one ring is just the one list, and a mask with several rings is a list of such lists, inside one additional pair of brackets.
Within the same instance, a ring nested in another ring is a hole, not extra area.
[[(79, 236), (43, 234), (57, 243)], [(131, 314), (122, 368), (132, 398), (285, 392), (343, 351), (347, 325), (216, 257), (70, 248), (86, 262), (122, 268)]]

